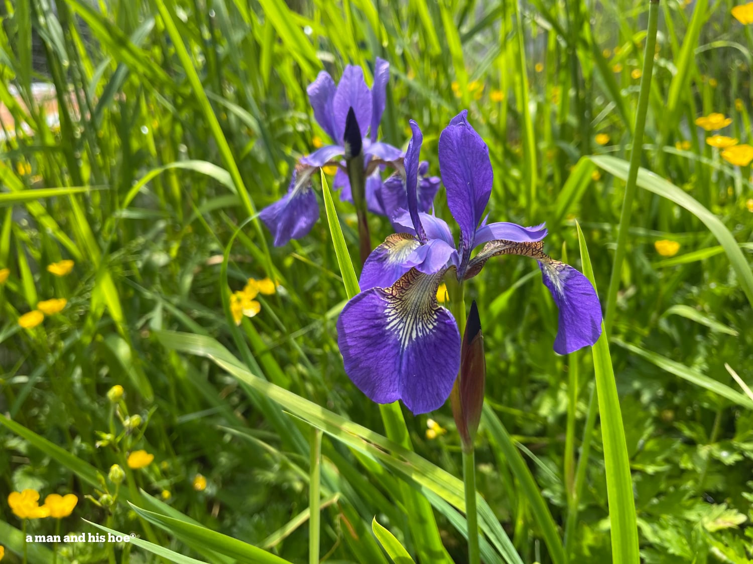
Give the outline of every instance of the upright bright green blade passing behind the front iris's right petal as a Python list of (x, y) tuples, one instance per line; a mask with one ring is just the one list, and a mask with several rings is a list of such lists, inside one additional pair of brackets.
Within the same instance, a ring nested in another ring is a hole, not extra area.
[[(583, 273), (596, 288), (593, 268), (588, 256), (586, 240), (578, 225), (578, 243), (581, 247)], [(627, 456), (625, 429), (614, 381), (607, 334), (602, 323), (602, 335), (592, 347), (593, 371), (596, 377), (596, 393), (599, 397), (599, 415), (602, 422), (604, 465), (611, 523), (612, 562), (615, 564), (639, 564), (638, 525), (636, 503), (633, 499), (633, 478), (630, 475), (630, 459)]]

